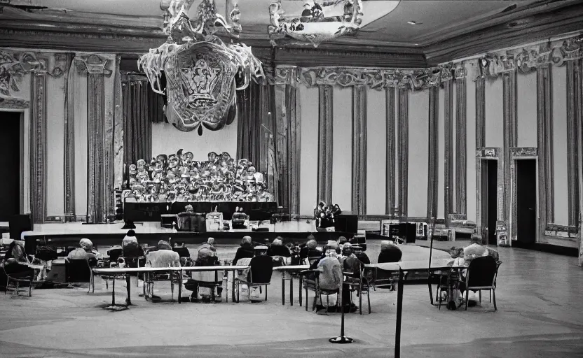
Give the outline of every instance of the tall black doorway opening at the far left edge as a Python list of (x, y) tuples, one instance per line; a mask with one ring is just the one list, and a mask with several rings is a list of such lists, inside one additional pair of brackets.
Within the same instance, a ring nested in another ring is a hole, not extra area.
[(0, 112), (0, 222), (20, 213), (20, 112)]

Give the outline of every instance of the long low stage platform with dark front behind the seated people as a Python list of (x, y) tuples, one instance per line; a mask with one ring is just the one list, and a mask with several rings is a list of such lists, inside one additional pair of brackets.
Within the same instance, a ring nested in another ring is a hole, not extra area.
[[(268, 231), (252, 231), (250, 229), (230, 231), (207, 231), (203, 233), (189, 231), (174, 231), (160, 227), (160, 223), (137, 222), (135, 223), (137, 239), (139, 243), (156, 245), (158, 241), (165, 240), (170, 243), (184, 243), (186, 245), (200, 244), (209, 237), (215, 239), (217, 244), (238, 244), (243, 236), (251, 236), (253, 241), (263, 242), (268, 239), (273, 241), (277, 236), (287, 242), (303, 243), (311, 234), (320, 245), (329, 240), (337, 240), (340, 236), (352, 238), (354, 233), (337, 231), (317, 232), (313, 222), (291, 221), (278, 222), (276, 224), (261, 224), (260, 228)], [(120, 245), (123, 237), (128, 232), (121, 229), (123, 222), (115, 224), (82, 224), (78, 222), (36, 224), (34, 231), (22, 233), (26, 242), (27, 252), (35, 252), (37, 244), (47, 243), (56, 247), (76, 246), (81, 238), (88, 238), (97, 247)]]

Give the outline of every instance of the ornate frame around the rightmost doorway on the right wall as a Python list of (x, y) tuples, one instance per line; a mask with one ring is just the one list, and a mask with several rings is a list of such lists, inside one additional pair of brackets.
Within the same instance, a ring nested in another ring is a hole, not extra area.
[[(516, 175), (516, 161), (521, 159), (535, 159), (536, 161), (536, 173), (538, 173), (538, 152), (535, 147), (514, 147), (510, 148), (510, 217), (509, 217), (509, 227), (510, 227), (510, 238), (509, 245), (512, 247), (512, 242), (518, 240), (518, 228), (516, 227), (517, 217), (518, 217), (518, 200), (516, 198), (517, 182), (518, 178)], [(540, 230), (538, 229), (538, 224), (540, 221), (540, 201), (538, 198), (538, 175), (536, 180), (536, 203), (537, 203), (537, 222), (535, 230), (535, 243), (540, 240)]]

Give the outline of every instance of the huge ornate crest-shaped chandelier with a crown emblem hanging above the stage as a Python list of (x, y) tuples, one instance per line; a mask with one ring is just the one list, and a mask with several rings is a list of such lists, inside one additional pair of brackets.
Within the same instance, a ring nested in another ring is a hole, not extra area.
[[(244, 90), (252, 78), (264, 76), (251, 48), (233, 43), (241, 31), (238, 4), (230, 23), (217, 14), (214, 0), (203, 0), (196, 20), (188, 10), (194, 0), (162, 0), (164, 32), (168, 40), (138, 60), (152, 90), (167, 96), (168, 122), (181, 131), (217, 131), (235, 120), (236, 90)], [(231, 43), (216, 35), (226, 33)]]

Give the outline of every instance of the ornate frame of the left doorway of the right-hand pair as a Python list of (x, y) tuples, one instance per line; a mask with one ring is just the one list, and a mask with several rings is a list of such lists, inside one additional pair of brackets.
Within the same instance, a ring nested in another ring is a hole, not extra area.
[[(483, 147), (476, 148), (476, 234), (483, 238), (483, 215), (482, 213), (482, 165), (484, 165), (484, 160), (497, 160), (498, 161), (498, 173), (496, 175), (496, 188), (498, 193), (496, 194), (496, 199), (498, 201), (497, 205), (497, 217), (496, 221), (505, 221), (504, 218), (504, 163), (500, 157), (500, 148), (493, 147)], [(487, 243), (487, 238), (486, 238)], [(498, 243), (497, 243), (498, 244)]]

